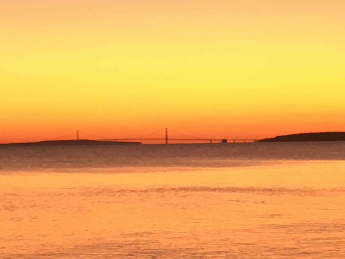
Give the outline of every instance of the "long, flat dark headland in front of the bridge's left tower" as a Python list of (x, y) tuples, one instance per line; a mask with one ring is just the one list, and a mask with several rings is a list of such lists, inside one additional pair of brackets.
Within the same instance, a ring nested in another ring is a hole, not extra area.
[(7, 143), (0, 146), (94, 146), (94, 145), (140, 145), (141, 142), (97, 140), (45, 140), (39, 142)]

